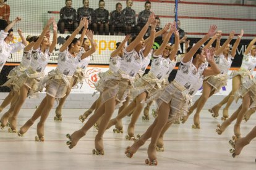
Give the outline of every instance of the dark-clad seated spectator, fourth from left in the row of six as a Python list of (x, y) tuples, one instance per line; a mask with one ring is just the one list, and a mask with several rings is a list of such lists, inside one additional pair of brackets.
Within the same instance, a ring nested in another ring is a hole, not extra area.
[(120, 2), (116, 3), (116, 10), (110, 12), (110, 34), (114, 33), (121, 35), (122, 32), (122, 4)]

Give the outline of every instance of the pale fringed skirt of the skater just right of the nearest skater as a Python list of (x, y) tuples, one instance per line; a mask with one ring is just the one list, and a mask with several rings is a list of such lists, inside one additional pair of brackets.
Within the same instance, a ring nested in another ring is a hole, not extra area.
[(213, 87), (212, 91), (215, 93), (219, 92), (221, 87), (226, 86), (228, 81), (228, 75), (226, 74), (219, 74), (215, 76), (209, 76), (205, 79), (211, 87)]

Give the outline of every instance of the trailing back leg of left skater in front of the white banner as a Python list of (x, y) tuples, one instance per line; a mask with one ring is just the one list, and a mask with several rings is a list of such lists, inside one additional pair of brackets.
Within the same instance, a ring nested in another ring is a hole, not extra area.
[(33, 114), (32, 118), (28, 119), (28, 121), (22, 127), (20, 127), (20, 131), (18, 133), (19, 136), (23, 136), (23, 134), (25, 134), (25, 132), (28, 131), (29, 127), (33, 125), (36, 119), (38, 119), (41, 116), (41, 111), (43, 110), (45, 105), (46, 105), (46, 97), (42, 100), (39, 107), (36, 108), (36, 111)]

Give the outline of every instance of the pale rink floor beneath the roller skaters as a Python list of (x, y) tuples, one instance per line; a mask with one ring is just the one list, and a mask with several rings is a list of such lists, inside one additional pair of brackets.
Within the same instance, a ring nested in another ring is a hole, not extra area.
[[(6, 111), (6, 110), (4, 110)], [(0, 113), (0, 116), (4, 113)], [(18, 127), (32, 115), (35, 109), (22, 109)], [(0, 169), (152, 169), (145, 164), (148, 142), (132, 158), (124, 150), (133, 142), (126, 140), (126, 129), (130, 118), (123, 119), (124, 133), (114, 134), (113, 129), (104, 136), (105, 155), (92, 154), (96, 129), (92, 127), (87, 135), (70, 150), (66, 145), (67, 133), (72, 133), (83, 124), (78, 117), (85, 110), (62, 110), (62, 122), (53, 120), (51, 110), (45, 124), (45, 142), (35, 142), (36, 123), (25, 134), (8, 133), (0, 129)], [(231, 110), (229, 114), (234, 110)], [(116, 112), (114, 113), (116, 115)], [(255, 114), (256, 115), (256, 114)], [(247, 134), (256, 124), (256, 117), (242, 123), (242, 135)], [(151, 116), (151, 115), (150, 115)], [(141, 116), (142, 117), (142, 116)], [(152, 123), (140, 117), (135, 127), (136, 134), (142, 134)], [(192, 129), (192, 118), (186, 124), (174, 124), (166, 133), (164, 152), (158, 152), (157, 169), (256, 169), (256, 142), (247, 145), (241, 155), (233, 158), (229, 153), (228, 141), (233, 136), (233, 124), (221, 136), (216, 134), (220, 118), (211, 118), (207, 110), (201, 113), (201, 129)]]

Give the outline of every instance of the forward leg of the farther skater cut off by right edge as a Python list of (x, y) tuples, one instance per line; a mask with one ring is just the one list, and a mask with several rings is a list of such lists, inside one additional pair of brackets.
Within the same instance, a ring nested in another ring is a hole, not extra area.
[(223, 108), (223, 120), (228, 118), (228, 109), (232, 102), (234, 101), (234, 93), (239, 89), (241, 86), (241, 76), (235, 76), (232, 80), (232, 91), (229, 94), (228, 102), (226, 104), (226, 107)]

